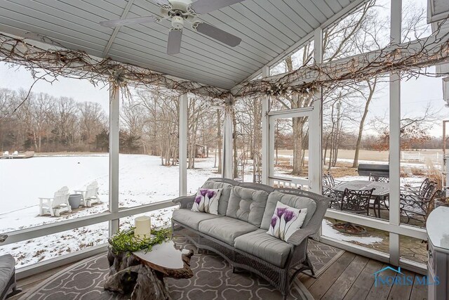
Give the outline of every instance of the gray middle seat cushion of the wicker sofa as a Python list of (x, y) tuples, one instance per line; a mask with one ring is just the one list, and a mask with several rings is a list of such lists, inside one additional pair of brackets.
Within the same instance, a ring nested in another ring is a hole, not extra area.
[(201, 221), (199, 231), (215, 237), (217, 240), (234, 246), (234, 239), (259, 228), (238, 219), (223, 216), (221, 218)]

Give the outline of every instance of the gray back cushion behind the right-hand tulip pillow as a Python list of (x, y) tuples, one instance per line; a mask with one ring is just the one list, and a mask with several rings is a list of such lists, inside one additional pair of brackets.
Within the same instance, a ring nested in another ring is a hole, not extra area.
[(316, 203), (307, 197), (300, 197), (290, 194), (284, 194), (280, 192), (270, 193), (267, 200), (267, 207), (264, 211), (264, 216), (262, 219), (262, 224), (260, 228), (268, 230), (269, 224), (272, 221), (272, 216), (274, 214), (274, 209), (276, 208), (277, 202), (286, 204), (289, 207), (294, 207), (295, 209), (307, 209), (307, 216), (302, 223), (302, 227), (309, 223), (311, 216), (314, 215), (316, 210)]

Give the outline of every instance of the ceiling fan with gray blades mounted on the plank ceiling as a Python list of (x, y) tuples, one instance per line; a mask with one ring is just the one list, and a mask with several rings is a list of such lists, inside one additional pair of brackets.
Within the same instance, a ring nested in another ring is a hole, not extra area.
[(194, 32), (207, 35), (217, 41), (221, 41), (228, 46), (238, 46), (241, 42), (229, 32), (220, 30), (202, 20), (200, 15), (216, 11), (217, 9), (230, 6), (244, 0), (152, 0), (161, 8), (161, 16), (149, 15), (147, 17), (127, 18), (119, 20), (108, 20), (100, 22), (105, 27), (119, 27), (128, 24), (140, 24), (150, 22), (160, 22), (161, 20), (170, 20), (171, 28), (168, 32), (167, 54), (173, 55), (180, 53), (182, 30), (188, 23)]

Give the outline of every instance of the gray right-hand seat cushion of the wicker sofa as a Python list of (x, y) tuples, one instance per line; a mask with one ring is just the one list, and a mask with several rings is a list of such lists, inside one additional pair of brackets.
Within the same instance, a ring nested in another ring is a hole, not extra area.
[(236, 237), (234, 247), (283, 268), (293, 246), (259, 229)]

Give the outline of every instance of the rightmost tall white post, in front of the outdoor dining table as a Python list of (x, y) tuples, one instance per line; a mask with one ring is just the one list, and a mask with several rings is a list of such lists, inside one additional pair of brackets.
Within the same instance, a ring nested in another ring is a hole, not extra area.
[[(402, 0), (391, 1), (391, 43), (401, 44)], [(398, 226), (400, 219), (399, 197), (401, 186), (401, 75), (390, 74), (390, 136), (389, 136), (389, 223)], [(399, 266), (399, 235), (389, 234), (390, 263)]]

